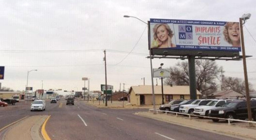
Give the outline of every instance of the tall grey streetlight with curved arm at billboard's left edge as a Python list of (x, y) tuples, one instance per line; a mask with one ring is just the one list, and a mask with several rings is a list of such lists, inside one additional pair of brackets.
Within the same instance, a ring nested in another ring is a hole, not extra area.
[[(150, 37), (149, 37), (149, 33), (150, 33), (150, 26), (149, 26), (149, 21), (148, 23), (142, 21), (141, 19), (137, 18), (137, 17), (133, 17), (133, 16), (128, 16), (128, 15), (124, 15), (125, 18), (135, 18), (145, 24), (148, 25), (148, 46), (150, 48)], [(151, 55), (151, 49), (149, 50), (149, 58), (150, 58), (150, 69), (151, 69), (151, 82), (152, 82), (152, 102), (153, 102), (153, 114), (156, 114), (156, 106), (155, 106), (155, 93), (154, 93), (154, 81), (153, 81), (153, 68), (152, 68), (152, 55)]]

